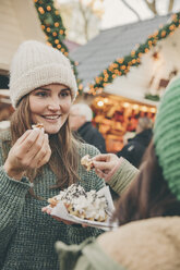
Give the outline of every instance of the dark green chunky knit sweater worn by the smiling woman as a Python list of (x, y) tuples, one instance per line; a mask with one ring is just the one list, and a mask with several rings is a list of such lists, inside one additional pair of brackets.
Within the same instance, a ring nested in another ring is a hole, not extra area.
[[(65, 225), (41, 212), (47, 199), (60, 189), (50, 189), (56, 183), (56, 175), (48, 165), (44, 165), (43, 174), (34, 181), (35, 194), (45, 198), (37, 200), (26, 196), (31, 184), (28, 179), (21, 182), (10, 179), (3, 170), (3, 151), (9, 150), (9, 135), (5, 142), (0, 140), (0, 269), (1, 270), (58, 270), (58, 256), (55, 243), (79, 244), (88, 236), (97, 236), (100, 230)], [(1, 136), (2, 137), (2, 136)], [(99, 154), (94, 147), (83, 144), (80, 156), (91, 157)], [(100, 189), (105, 182), (94, 171), (85, 171), (80, 165), (81, 185), (86, 189)]]

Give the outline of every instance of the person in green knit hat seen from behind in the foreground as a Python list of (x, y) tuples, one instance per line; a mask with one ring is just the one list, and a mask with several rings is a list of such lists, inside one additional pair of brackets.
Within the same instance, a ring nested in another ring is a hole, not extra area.
[[(58, 242), (60, 269), (180, 269), (179, 108), (180, 78), (165, 93), (153, 142), (140, 172), (136, 171), (136, 177), (119, 200), (113, 216), (119, 229), (104, 233), (97, 240), (86, 240), (79, 246)], [(106, 181), (111, 181), (110, 177), (123, 168), (113, 155), (98, 155), (94, 165)]]

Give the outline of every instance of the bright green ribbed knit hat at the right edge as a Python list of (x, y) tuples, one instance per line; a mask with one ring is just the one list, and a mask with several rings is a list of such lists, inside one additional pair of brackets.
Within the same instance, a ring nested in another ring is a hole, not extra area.
[(180, 200), (180, 77), (166, 89), (154, 126), (155, 151), (169, 189)]

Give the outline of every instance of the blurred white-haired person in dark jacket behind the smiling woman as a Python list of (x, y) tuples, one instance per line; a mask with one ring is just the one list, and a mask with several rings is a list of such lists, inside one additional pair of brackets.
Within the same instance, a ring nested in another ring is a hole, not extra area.
[(87, 144), (94, 145), (101, 154), (106, 152), (105, 138), (92, 124), (93, 111), (85, 103), (76, 103), (71, 107), (70, 127)]

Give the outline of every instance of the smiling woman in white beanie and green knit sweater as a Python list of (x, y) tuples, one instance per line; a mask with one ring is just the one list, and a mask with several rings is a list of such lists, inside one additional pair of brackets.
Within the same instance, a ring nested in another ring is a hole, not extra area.
[[(86, 191), (105, 185), (80, 164), (81, 157), (99, 151), (76, 142), (69, 128), (76, 90), (70, 61), (60, 51), (34, 40), (20, 46), (10, 70), (15, 111), (11, 130), (0, 135), (0, 269), (59, 269), (57, 240), (79, 244), (101, 233), (41, 212), (49, 197), (72, 183)], [(32, 130), (37, 123), (45, 133)]]

